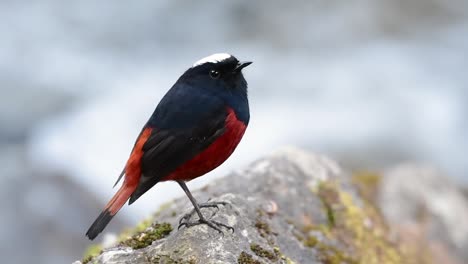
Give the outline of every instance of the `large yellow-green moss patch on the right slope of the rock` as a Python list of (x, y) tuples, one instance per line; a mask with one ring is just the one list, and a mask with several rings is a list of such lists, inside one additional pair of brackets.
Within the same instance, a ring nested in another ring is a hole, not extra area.
[(338, 183), (321, 184), (318, 195), (333, 210), (335, 224), (330, 234), (341, 246), (316, 243), (319, 252), (335, 258), (331, 263), (403, 263), (404, 257), (390, 242), (388, 228), (375, 207), (366, 202), (361, 207), (356, 205), (351, 194), (341, 190)]

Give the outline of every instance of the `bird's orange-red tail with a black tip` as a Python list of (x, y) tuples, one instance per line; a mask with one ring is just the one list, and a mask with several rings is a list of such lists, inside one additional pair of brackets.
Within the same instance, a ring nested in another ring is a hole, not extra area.
[(86, 232), (86, 236), (90, 240), (95, 239), (102, 232), (102, 230), (104, 230), (104, 228), (112, 220), (112, 217), (117, 214), (120, 208), (122, 208), (125, 202), (127, 202), (127, 200), (130, 198), (136, 187), (137, 185), (129, 186), (125, 183), (122, 185), (122, 187), (120, 187), (114, 197), (112, 197), (109, 203), (107, 203), (104, 210), (88, 229), (88, 232)]

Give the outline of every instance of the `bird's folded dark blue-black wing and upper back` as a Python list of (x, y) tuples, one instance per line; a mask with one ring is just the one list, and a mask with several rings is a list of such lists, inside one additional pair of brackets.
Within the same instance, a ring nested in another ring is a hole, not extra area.
[(210, 146), (224, 133), (226, 117), (221, 99), (190, 86), (173, 87), (146, 125), (153, 130), (143, 146), (141, 178), (129, 203)]

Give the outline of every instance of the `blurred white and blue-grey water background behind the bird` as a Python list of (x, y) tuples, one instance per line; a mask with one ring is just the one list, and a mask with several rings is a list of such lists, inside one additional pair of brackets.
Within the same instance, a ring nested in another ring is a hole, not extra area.
[[(468, 2), (0, 1), (0, 255), (80, 258), (138, 132), (191, 64), (254, 64), (251, 123), (202, 186), (284, 145), (468, 181)], [(182, 195), (158, 184), (118, 231)], [(28, 252), (25, 254), (24, 252)]]

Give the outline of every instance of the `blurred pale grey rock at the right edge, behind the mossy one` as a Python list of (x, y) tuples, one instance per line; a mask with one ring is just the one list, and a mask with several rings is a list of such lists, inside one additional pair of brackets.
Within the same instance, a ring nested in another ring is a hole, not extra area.
[(388, 170), (380, 186), (380, 208), (403, 239), (427, 241), (441, 258), (434, 263), (468, 262), (468, 199), (461, 188), (417, 164)]

